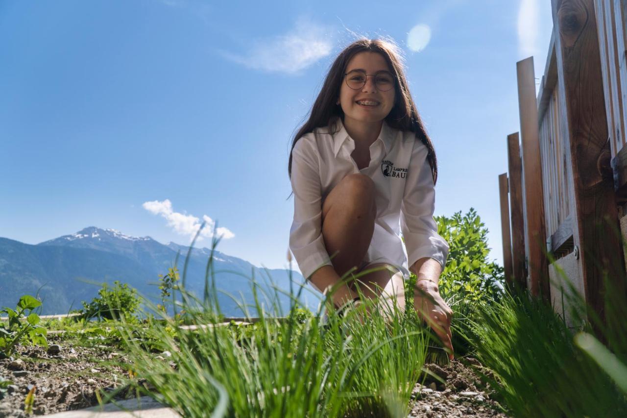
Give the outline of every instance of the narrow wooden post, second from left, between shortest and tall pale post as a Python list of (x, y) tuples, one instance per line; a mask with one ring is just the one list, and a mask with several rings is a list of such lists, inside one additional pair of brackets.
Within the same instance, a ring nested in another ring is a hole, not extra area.
[(518, 132), (507, 136), (510, 203), (512, 205), (512, 276), (520, 290), (527, 289), (525, 220), (522, 214), (522, 161)]

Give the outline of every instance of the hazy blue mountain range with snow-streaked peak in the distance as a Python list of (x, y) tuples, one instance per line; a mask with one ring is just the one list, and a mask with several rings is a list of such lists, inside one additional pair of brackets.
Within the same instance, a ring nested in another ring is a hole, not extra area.
[[(186, 289), (202, 298), (206, 269), (211, 250), (170, 242), (161, 244), (150, 237), (130, 237), (113, 229), (88, 227), (71, 235), (55, 238), (37, 245), (23, 244), (0, 238), (0, 306), (14, 307), (23, 294), (36, 294), (43, 300), (43, 314), (66, 313), (80, 308), (81, 301), (97, 296), (102, 282), (115, 280), (135, 287), (152, 301), (159, 300), (159, 274), (166, 274), (177, 260), (183, 277), (184, 261)], [(177, 259), (177, 254), (178, 259)], [(303, 277), (291, 272), (294, 292)], [(211, 284), (211, 274), (208, 277)], [(218, 290), (221, 311), (226, 316), (241, 316), (242, 300), (255, 313), (251, 277), (260, 284), (260, 301), (267, 307), (278, 301), (287, 312), (290, 297), (275, 292), (272, 283), (283, 292), (290, 292), (290, 271), (260, 269), (246, 260), (213, 252), (213, 279)], [(210, 287), (211, 289), (211, 287)], [(229, 294), (231, 296), (229, 296)], [(236, 299), (233, 300), (233, 298)], [(300, 301), (316, 309), (319, 294), (309, 284), (301, 292)], [(239, 306), (238, 306), (239, 302)]]

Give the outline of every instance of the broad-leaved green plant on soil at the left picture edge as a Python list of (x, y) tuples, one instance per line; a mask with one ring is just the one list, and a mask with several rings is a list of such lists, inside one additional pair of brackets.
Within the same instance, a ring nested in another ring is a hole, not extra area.
[[(4, 356), (13, 354), (18, 344), (48, 346), (46, 328), (38, 325), (40, 317), (33, 309), (41, 306), (41, 302), (33, 296), (24, 295), (19, 298), (15, 309), (4, 308), (0, 313), (8, 314), (8, 323), (0, 323), (0, 353)], [(28, 315), (27, 315), (28, 314)]]

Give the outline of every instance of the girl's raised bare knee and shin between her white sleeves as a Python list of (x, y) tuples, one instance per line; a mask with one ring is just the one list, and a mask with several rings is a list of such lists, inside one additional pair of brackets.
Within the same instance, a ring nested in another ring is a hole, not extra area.
[(343, 276), (361, 267), (374, 232), (377, 214), (374, 182), (349, 174), (322, 204), (322, 236), (335, 272)]

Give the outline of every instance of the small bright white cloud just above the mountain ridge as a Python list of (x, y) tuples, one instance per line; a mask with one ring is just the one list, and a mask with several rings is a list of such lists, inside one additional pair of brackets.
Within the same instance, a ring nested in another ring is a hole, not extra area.
[[(174, 212), (174, 210), (172, 210), (172, 202), (169, 199), (164, 201), (146, 201), (142, 204), (142, 207), (154, 215), (161, 215), (166, 218), (167, 226), (171, 227), (172, 230), (179, 235), (189, 237), (190, 241), (196, 236), (196, 233), (198, 233), (202, 225), (200, 219), (194, 215)], [(213, 237), (213, 230), (216, 226), (216, 223), (207, 215), (203, 215), (203, 221), (205, 225), (198, 236), (199, 241), (203, 238)], [(222, 239), (233, 238), (235, 236), (233, 232), (224, 227), (217, 228), (216, 235)]]

